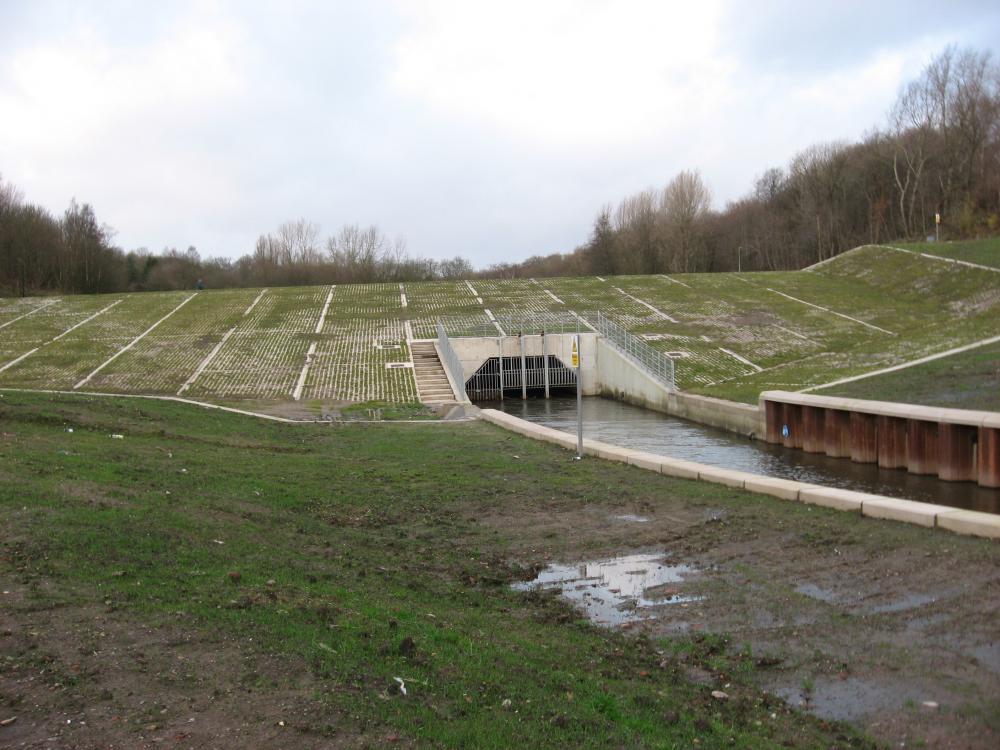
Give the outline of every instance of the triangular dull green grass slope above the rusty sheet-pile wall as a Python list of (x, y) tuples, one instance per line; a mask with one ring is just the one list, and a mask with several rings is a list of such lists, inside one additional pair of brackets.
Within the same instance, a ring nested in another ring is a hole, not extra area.
[(821, 396), (1000, 411), (1000, 344), (824, 388), (817, 393)]

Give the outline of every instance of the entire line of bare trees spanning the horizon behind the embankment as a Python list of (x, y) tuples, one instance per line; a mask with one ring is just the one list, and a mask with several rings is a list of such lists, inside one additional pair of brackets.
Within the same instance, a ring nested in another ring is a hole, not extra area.
[(53, 216), (0, 179), (0, 294), (792, 269), (860, 244), (922, 239), (938, 216), (943, 238), (1000, 231), (1000, 67), (989, 52), (945, 49), (901, 88), (881, 127), (766, 169), (722, 210), (701, 175), (683, 171), (603, 207), (571, 252), (478, 272), (461, 257), (411, 256), (375, 226), (324, 239), (304, 219), (236, 260), (194, 247), (126, 252), (89, 204)]

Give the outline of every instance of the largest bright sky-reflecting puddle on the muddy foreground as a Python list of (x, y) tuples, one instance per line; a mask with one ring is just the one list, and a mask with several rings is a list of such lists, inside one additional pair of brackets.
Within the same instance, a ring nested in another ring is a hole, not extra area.
[(695, 573), (690, 565), (666, 565), (662, 554), (629, 555), (575, 565), (550, 565), (533, 581), (515, 583), (519, 591), (560, 589), (598, 625), (615, 626), (652, 617), (649, 609), (698, 601), (676, 586)]

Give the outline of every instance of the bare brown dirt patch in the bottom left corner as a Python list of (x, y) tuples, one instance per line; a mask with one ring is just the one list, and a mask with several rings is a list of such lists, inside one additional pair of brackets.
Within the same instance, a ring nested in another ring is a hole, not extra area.
[[(4, 584), (3, 747), (330, 748), (380, 744), (319, 697), (310, 670), (183, 615), (150, 625), (104, 603)], [(34, 593), (33, 593), (34, 591)], [(56, 599), (58, 597), (56, 596)], [(404, 746), (406, 743), (403, 743)]]

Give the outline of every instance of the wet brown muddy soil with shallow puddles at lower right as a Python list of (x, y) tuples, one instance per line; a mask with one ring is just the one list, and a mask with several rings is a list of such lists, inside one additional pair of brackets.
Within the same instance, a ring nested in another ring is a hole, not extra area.
[[(612, 493), (581, 510), (553, 498), (483, 521), (518, 539), (512, 552), (543, 576), (553, 563), (586, 570), (637, 553), (687, 566), (670, 583), (674, 601), (656, 606), (646, 592), (641, 616), (617, 626), (725, 634), (753, 654), (752, 684), (820, 718), (897, 747), (1000, 746), (1000, 545), (797, 503), (783, 516), (737, 497), (747, 502), (727, 510)], [(582, 601), (606, 619), (607, 607)], [(690, 671), (720, 689), (731, 679)]]

